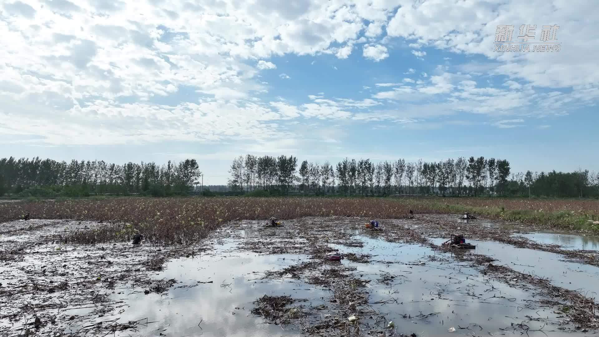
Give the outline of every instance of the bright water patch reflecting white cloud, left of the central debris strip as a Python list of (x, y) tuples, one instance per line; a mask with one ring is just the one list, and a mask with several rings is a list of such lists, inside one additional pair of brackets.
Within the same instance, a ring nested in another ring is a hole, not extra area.
[(147, 317), (156, 321), (140, 329), (140, 335), (148, 336), (298, 336), (298, 331), (265, 324), (250, 310), (252, 302), (265, 294), (310, 299), (313, 305), (322, 302), (321, 297), (328, 296), (323, 289), (292, 279), (261, 279), (266, 270), (283, 269), (307, 257), (235, 252), (228, 249), (232, 246), (229, 243), (194, 258), (171, 261), (155, 277), (175, 278), (179, 283), (167, 295), (130, 296), (121, 320)]

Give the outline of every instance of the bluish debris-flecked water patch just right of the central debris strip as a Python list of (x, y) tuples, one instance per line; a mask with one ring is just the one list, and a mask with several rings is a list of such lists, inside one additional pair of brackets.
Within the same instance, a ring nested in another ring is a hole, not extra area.
[[(358, 273), (373, 280), (371, 303), (397, 299), (399, 303), (394, 301), (375, 308), (389, 312), (389, 319), (397, 319), (398, 324), (409, 329), (404, 332), (419, 336), (444, 335), (450, 327), (458, 329), (459, 326), (472, 329), (462, 330), (464, 332), (487, 335), (488, 332), (501, 332), (500, 329), (526, 315), (555, 317), (550, 310), (527, 306), (527, 300), (533, 298), (530, 293), (485, 278), (478, 270), (453, 261), (450, 254), (439, 254), (420, 245), (362, 240), (364, 248), (338, 248), (345, 252), (377, 255), (373, 260), (393, 263), (343, 263), (354, 264)], [(376, 280), (386, 273), (400, 276), (389, 285), (377, 284)], [(418, 317), (432, 313), (438, 314)], [(412, 318), (403, 318), (401, 314), (409, 314)]]

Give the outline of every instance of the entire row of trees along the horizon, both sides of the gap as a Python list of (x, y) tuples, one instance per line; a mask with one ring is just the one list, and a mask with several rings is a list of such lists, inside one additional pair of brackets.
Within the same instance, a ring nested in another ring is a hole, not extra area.
[[(167, 164), (77, 161), (69, 163), (40, 158), (2, 158), (0, 195), (41, 197), (92, 194), (186, 194), (198, 184), (201, 171), (196, 160)], [(268, 194), (442, 194), (518, 195), (547, 197), (599, 197), (599, 174), (573, 172), (512, 173), (507, 160), (460, 157), (428, 163), (403, 159), (380, 161), (345, 158), (322, 164), (297, 157), (246, 155), (235, 158), (228, 186), (234, 191)], [(213, 186), (225, 191), (224, 186)]]

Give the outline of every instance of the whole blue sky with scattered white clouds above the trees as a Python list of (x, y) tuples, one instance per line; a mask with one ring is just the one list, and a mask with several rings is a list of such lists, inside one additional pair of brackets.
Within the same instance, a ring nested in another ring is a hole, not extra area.
[[(599, 169), (586, 0), (2, 0), (0, 157)], [(495, 50), (498, 25), (530, 52)], [(520, 32), (521, 25), (536, 30)], [(559, 52), (533, 52), (544, 25)], [(555, 40), (556, 39), (556, 40)], [(595, 154), (595, 155), (593, 155)]]

